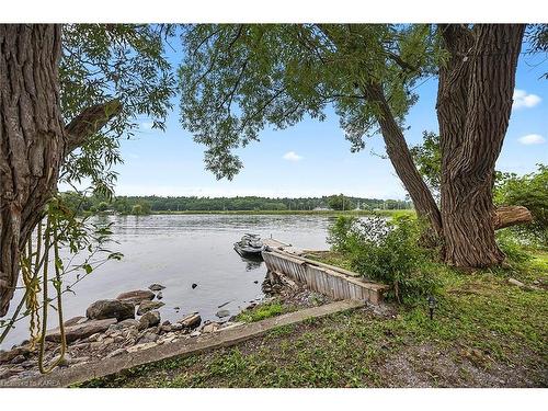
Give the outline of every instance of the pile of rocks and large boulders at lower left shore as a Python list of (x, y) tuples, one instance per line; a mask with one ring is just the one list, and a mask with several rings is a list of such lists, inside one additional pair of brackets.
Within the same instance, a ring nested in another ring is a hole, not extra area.
[[(164, 287), (152, 284), (150, 289), (161, 292)], [(75, 317), (65, 321), (67, 353), (60, 365), (70, 367), (91, 361), (133, 353), (160, 344), (191, 339), (203, 333), (216, 332), (239, 323), (210, 322), (203, 324), (197, 312), (183, 316), (179, 321), (161, 321), (158, 308), (164, 304), (149, 290), (132, 290), (115, 299), (103, 299), (90, 305), (85, 317)], [(136, 319), (135, 311), (140, 318)], [(59, 356), (61, 340), (59, 328), (48, 330), (45, 342), (45, 364), (53, 364)], [(0, 351), (0, 383), (26, 378), (38, 374), (37, 349), (28, 342), (14, 346), (11, 351)]]

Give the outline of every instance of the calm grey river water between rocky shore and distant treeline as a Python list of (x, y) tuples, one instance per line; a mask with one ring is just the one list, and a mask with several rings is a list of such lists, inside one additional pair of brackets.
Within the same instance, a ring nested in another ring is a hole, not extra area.
[[(176, 321), (197, 311), (203, 320), (215, 319), (219, 306), (236, 315), (250, 300), (262, 297), (266, 275), (262, 262), (249, 262), (232, 249), (246, 232), (270, 236), (304, 249), (327, 249), (327, 228), (333, 217), (255, 215), (152, 215), (96, 217), (96, 222), (114, 222), (109, 248), (124, 254), (109, 261), (64, 294), (65, 319), (84, 316), (90, 304), (115, 298), (152, 283), (165, 286), (160, 308), (162, 321)], [(101, 220), (102, 219), (102, 220)], [(67, 278), (70, 282), (71, 278)], [(197, 287), (192, 288), (192, 284)], [(22, 290), (15, 293), (10, 313)], [(179, 309), (175, 309), (179, 307)], [(49, 311), (48, 328), (57, 326)], [(11, 318), (8, 315), (5, 318)], [(19, 321), (2, 344), (9, 349), (26, 339), (27, 322)]]

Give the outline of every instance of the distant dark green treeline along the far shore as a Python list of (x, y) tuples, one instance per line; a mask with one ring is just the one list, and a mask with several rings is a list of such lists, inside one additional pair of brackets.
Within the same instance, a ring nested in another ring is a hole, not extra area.
[(153, 212), (221, 212), (221, 210), (313, 210), (313, 209), (410, 209), (411, 202), (346, 197), (341, 195), (302, 198), (272, 197), (159, 197), (116, 196), (109, 201), (75, 192), (64, 193), (66, 203), (79, 212), (149, 214)]

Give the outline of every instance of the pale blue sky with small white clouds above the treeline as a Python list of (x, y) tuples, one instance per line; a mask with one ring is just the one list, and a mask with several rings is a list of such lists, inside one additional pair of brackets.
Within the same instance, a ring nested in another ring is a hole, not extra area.
[[(168, 57), (174, 67), (181, 60), (176, 53)], [(536, 163), (548, 163), (548, 81), (540, 79), (548, 71), (545, 59), (521, 56), (510, 126), (496, 162), (500, 171), (524, 174), (533, 172)], [(436, 79), (415, 90), (419, 102), (407, 117), (410, 146), (421, 141), (423, 130), (437, 132), (436, 91)], [(364, 150), (352, 153), (332, 110), (324, 122), (306, 118), (288, 129), (263, 130), (260, 141), (237, 151), (244, 164), (240, 173), (232, 181), (217, 181), (204, 168), (205, 148), (180, 125), (179, 98), (173, 106), (165, 132), (151, 129), (149, 119), (139, 118), (139, 130), (122, 141), (125, 162), (115, 169), (116, 195), (406, 196), (385, 158), (381, 136), (367, 139)]]

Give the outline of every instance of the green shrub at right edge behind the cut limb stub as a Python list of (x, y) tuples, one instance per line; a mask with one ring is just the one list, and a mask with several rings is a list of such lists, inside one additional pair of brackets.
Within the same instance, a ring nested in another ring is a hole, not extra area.
[(548, 247), (548, 167), (538, 164), (536, 172), (523, 176), (498, 173), (494, 202), (527, 207), (533, 214), (533, 222), (513, 230), (534, 246)]

